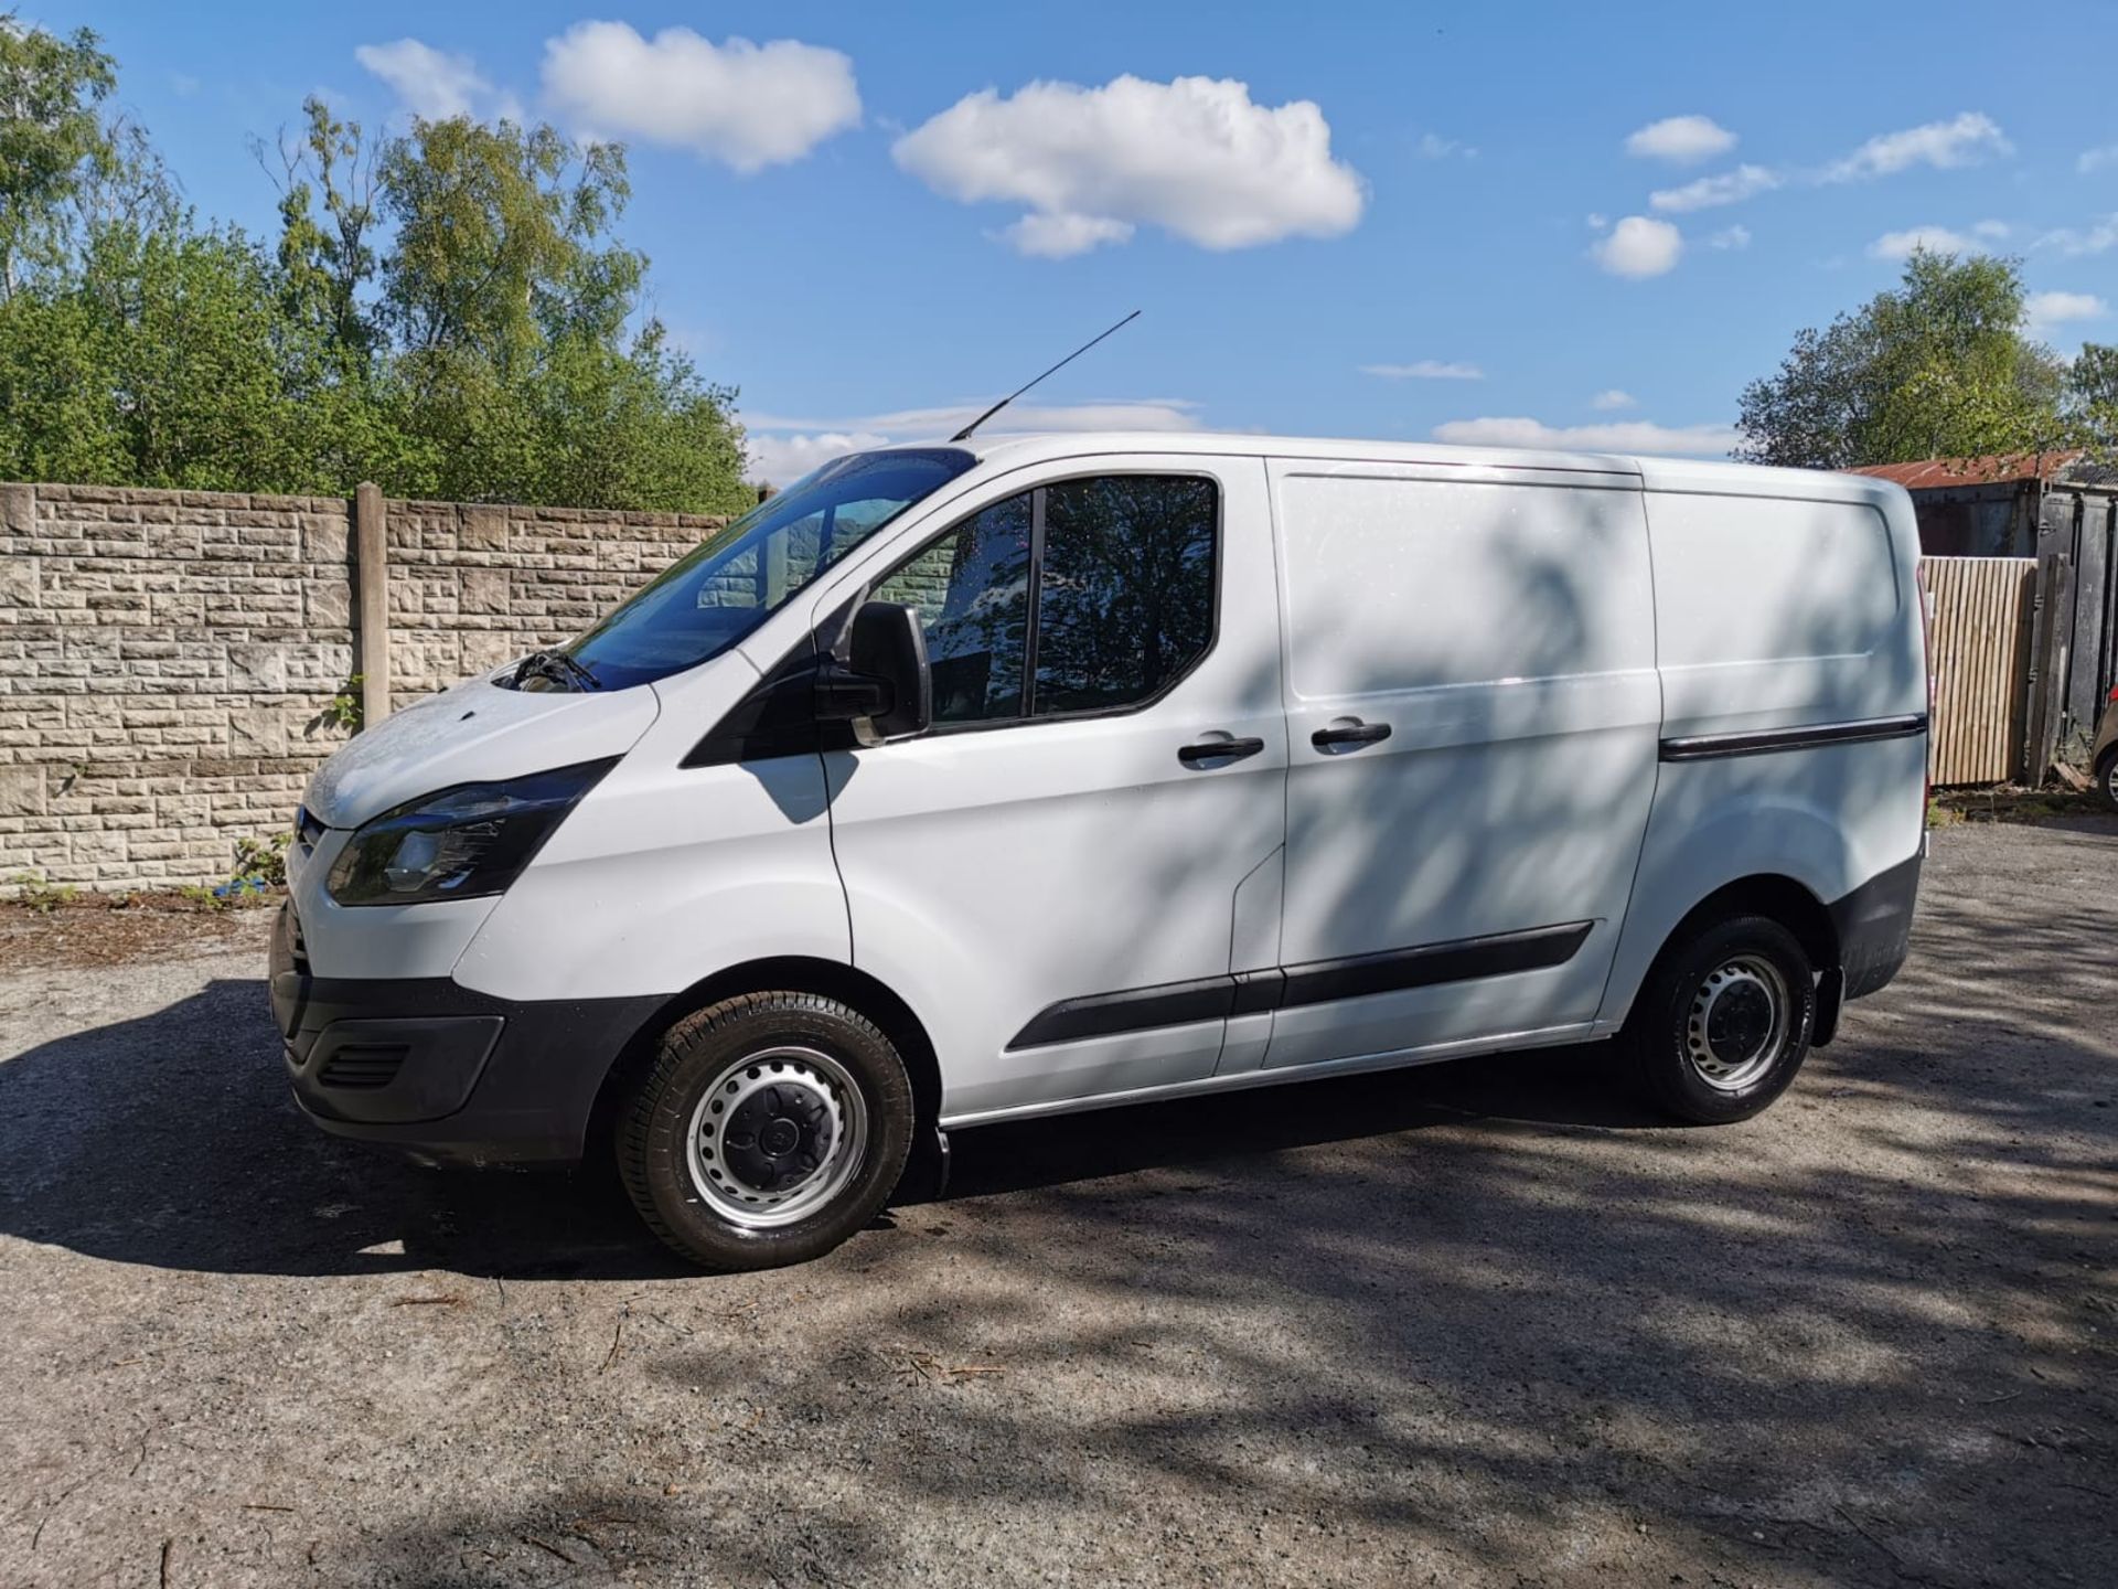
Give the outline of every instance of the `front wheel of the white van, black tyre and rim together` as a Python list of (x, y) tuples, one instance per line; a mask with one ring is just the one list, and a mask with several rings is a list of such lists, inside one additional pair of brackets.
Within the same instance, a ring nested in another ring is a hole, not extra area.
[(911, 1150), (913, 1089), (858, 1011), (746, 994), (669, 1028), (616, 1138), (654, 1235), (710, 1269), (775, 1269), (875, 1218)]

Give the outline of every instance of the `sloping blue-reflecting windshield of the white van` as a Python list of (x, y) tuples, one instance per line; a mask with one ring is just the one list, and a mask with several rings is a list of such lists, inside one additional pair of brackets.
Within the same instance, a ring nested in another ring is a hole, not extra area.
[[(955, 447), (849, 453), (767, 498), (559, 650), (602, 689), (648, 684), (741, 642), (904, 508), (979, 462)], [(568, 689), (572, 667), (523, 678)], [(587, 682), (587, 680), (582, 680)]]

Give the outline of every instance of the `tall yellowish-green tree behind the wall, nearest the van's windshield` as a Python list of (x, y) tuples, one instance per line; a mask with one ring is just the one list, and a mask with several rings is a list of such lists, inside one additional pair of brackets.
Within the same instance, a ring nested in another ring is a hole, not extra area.
[(394, 229), (379, 320), (424, 492), (559, 506), (735, 508), (733, 392), (638, 316), (646, 258), (610, 235), (618, 144), (419, 121), (379, 161)]

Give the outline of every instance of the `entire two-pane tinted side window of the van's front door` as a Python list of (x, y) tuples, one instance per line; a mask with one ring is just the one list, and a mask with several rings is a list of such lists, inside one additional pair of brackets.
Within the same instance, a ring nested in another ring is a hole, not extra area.
[[(1123, 708), (1159, 693), (1211, 642), (1216, 534), (1211, 481), (1063, 481), (966, 519), (900, 564), (875, 597), (919, 608), (936, 725)], [(1025, 693), (1029, 650), (1036, 678)]]

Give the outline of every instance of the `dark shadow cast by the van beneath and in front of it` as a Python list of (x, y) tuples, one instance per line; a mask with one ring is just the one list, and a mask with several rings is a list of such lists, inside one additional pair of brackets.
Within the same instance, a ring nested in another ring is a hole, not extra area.
[[(222, 979), (0, 1064), (0, 1231), (214, 1273), (686, 1273), (599, 1165), (451, 1174), (318, 1131), (288, 1095), (263, 1004), (263, 983)], [(1288, 1148), (1480, 1117), (1648, 1123), (1603, 1072), (1595, 1053), (1542, 1051), (993, 1125), (957, 1133), (947, 1197), (1152, 1165), (1262, 1167)], [(898, 1206), (913, 1201), (909, 1186)]]

